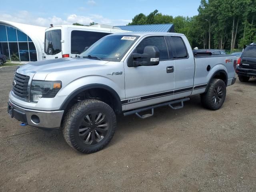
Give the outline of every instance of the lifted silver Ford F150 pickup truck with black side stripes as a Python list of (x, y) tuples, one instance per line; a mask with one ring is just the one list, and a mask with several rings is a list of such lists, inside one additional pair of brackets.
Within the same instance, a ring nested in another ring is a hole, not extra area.
[(92, 153), (110, 142), (118, 114), (147, 118), (160, 106), (182, 108), (196, 94), (204, 107), (219, 109), (226, 86), (236, 81), (235, 59), (194, 56), (183, 34), (112, 34), (77, 58), (30, 62), (18, 68), (8, 113), (31, 126), (61, 127), (72, 148)]

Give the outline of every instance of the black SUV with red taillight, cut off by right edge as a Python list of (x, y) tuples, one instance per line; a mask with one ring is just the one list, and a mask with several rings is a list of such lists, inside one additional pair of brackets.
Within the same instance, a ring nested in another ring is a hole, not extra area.
[(241, 82), (256, 77), (256, 43), (248, 45), (237, 61), (236, 73)]

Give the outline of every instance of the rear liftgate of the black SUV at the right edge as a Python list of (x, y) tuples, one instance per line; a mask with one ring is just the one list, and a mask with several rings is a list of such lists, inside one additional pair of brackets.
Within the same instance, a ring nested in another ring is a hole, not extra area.
[(256, 69), (256, 45), (249, 45), (241, 56), (241, 68)]

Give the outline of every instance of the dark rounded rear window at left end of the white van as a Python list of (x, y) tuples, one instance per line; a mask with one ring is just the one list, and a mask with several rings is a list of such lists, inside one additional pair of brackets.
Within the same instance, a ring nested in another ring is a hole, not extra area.
[(45, 32), (44, 52), (48, 55), (55, 55), (61, 52), (61, 30), (55, 29)]

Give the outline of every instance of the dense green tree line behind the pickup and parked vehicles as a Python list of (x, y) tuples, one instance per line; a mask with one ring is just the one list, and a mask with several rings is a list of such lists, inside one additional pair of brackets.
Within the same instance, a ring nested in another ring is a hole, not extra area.
[(192, 47), (234, 50), (256, 42), (256, 0), (201, 0), (198, 15), (164, 15), (154, 10), (140, 13), (128, 25), (174, 24)]

